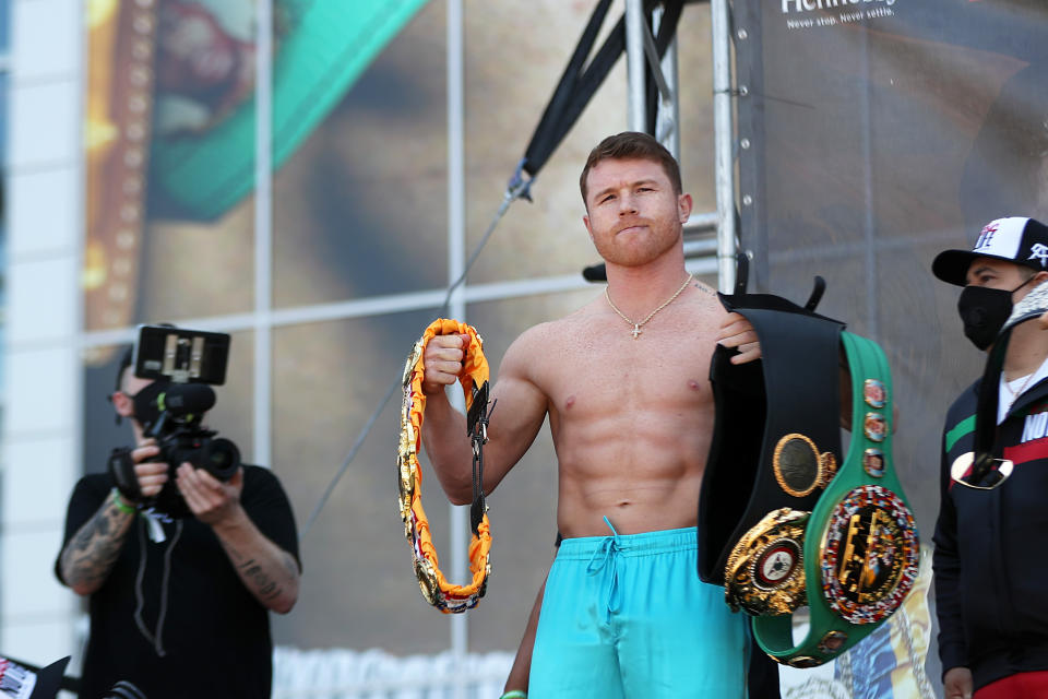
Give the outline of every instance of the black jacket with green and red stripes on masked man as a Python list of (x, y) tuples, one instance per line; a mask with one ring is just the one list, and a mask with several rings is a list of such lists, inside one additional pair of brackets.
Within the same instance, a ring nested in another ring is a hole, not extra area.
[(946, 415), (933, 559), (942, 668), (970, 668), (976, 689), (1048, 670), (1048, 380), (999, 426), (996, 455), (1015, 470), (992, 490), (950, 478), (973, 450), (978, 391), (976, 381)]

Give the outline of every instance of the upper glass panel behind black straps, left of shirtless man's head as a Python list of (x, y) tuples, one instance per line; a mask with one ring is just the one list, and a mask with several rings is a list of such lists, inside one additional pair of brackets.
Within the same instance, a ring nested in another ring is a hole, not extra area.
[[(593, 11), (591, 3), (540, 0), (529, 26), (499, 3), (471, 3), (466, 32), (466, 221), (469, 251), (500, 204), (560, 74)], [(614, 4), (598, 39), (621, 13)], [(473, 284), (575, 274), (596, 261), (582, 224), (579, 174), (586, 155), (626, 129), (626, 61), (612, 68), (574, 128), (538, 173), (534, 203), (515, 201), (471, 272)]]

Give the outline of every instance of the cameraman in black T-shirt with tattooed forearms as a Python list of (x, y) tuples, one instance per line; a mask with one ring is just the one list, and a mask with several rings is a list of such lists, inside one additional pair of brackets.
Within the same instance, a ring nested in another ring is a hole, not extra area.
[[(114, 454), (133, 483), (118, 489), (110, 464), (81, 478), (69, 502), (55, 569), (90, 599), (80, 696), (124, 680), (148, 699), (269, 697), (269, 612), (291, 609), (301, 574), (291, 508), (266, 469), (222, 479), (206, 463), (158, 461), (146, 433), (170, 387), (134, 376), (128, 351), (110, 400), (131, 422), (134, 447)], [(162, 511), (162, 494), (180, 511)]]

